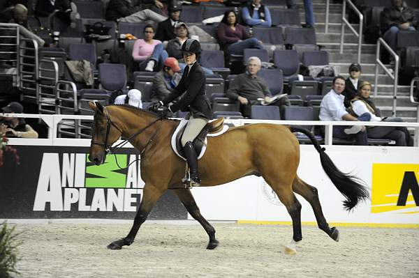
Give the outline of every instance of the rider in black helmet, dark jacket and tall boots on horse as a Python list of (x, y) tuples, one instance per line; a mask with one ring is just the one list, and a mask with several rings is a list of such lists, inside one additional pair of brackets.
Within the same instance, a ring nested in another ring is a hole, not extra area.
[[(182, 135), (182, 147), (189, 165), (189, 178), (185, 177), (182, 182), (186, 185), (200, 186), (198, 176), (198, 154), (193, 148), (192, 141), (195, 139), (204, 126), (212, 119), (212, 110), (210, 100), (205, 95), (205, 74), (198, 63), (201, 47), (198, 40), (188, 39), (182, 45), (182, 53), (185, 63), (182, 79), (167, 98), (152, 106), (154, 111), (161, 110), (161, 116), (166, 116), (168, 111), (177, 110), (189, 111), (186, 119), (189, 122), (186, 125)], [(179, 98), (184, 92), (182, 98), (168, 107), (170, 102)]]

